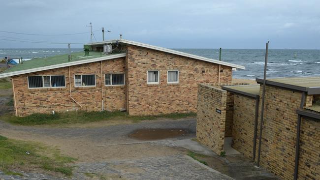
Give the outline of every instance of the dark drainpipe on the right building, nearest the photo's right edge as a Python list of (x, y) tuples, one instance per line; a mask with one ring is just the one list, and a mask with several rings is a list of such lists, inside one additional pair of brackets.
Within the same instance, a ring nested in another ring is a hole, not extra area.
[[(304, 106), (304, 102), (306, 100), (306, 92), (302, 92), (300, 108), (302, 109)], [(298, 115), (297, 120), (297, 136), (295, 142), (295, 161), (294, 161), (294, 176), (293, 180), (297, 180), (298, 178), (298, 167), (299, 167), (299, 149), (300, 149), (300, 129), (301, 129), (301, 116)]]

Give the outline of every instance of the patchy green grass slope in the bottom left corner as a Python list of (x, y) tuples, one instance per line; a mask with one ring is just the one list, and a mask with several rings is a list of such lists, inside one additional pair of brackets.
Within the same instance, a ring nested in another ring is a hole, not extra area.
[(42, 168), (70, 176), (72, 167), (67, 164), (75, 160), (62, 156), (59, 150), (50, 149), (38, 143), (17, 141), (0, 136), (0, 170), (8, 175), (21, 176), (20, 173), (12, 170)]

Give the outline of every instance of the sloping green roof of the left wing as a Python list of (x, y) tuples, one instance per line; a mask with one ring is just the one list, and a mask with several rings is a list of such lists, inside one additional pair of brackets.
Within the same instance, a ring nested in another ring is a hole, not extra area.
[(52, 57), (47, 57), (47, 58), (35, 58), (32, 60), (26, 60), (23, 61), (23, 63), (20, 63), (14, 67), (11, 67), (7, 70), (5, 70), (3, 73), (8, 73), (8, 72), (15, 72), (15, 71), (23, 71), (27, 69), (33, 69), (33, 68), (38, 68), (38, 67), (45, 67), (49, 65), (56, 65), (56, 64), (61, 64), (65, 62), (74, 62), (74, 61), (79, 61), (79, 60), (89, 60), (89, 59), (94, 59), (94, 58), (100, 58), (100, 57), (106, 57), (110, 56), (110, 54), (102, 55), (100, 52), (90, 52), (89, 56), (84, 57), (85, 52), (76, 52), (76, 53), (71, 53), (71, 58), (72, 60), (68, 61), (68, 54), (66, 55), (59, 55), (59, 56), (52, 56)]

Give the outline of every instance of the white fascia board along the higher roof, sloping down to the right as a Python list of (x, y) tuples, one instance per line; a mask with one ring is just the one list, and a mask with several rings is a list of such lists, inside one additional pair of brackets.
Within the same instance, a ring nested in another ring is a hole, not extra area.
[(149, 48), (149, 49), (154, 49), (154, 50), (157, 50), (157, 51), (171, 53), (171, 54), (184, 56), (184, 57), (188, 57), (188, 58), (192, 58), (192, 59), (196, 59), (196, 60), (203, 60), (203, 61), (216, 63), (216, 64), (221, 64), (221, 65), (234, 67), (234, 68), (239, 68), (239, 69), (246, 69), (246, 67), (242, 66), (242, 65), (237, 65), (237, 64), (233, 64), (233, 63), (229, 63), (229, 62), (224, 62), (224, 61), (221, 61), (221, 60), (213, 60), (213, 59), (209, 59), (209, 58), (205, 58), (205, 57), (201, 57), (201, 56), (192, 55), (192, 54), (189, 54), (189, 53), (183, 53), (183, 52), (175, 51), (175, 50), (172, 50), (172, 49), (162, 48), (162, 47), (159, 47), (159, 46), (153, 46), (153, 45), (150, 45), (150, 44), (144, 44), (144, 43), (141, 43), (141, 42), (126, 40), (126, 39), (118, 39), (118, 40), (116, 39), (116, 40), (95, 42), (95, 43), (89, 43), (88, 45), (99, 45), (99, 44), (106, 44), (106, 43), (116, 43), (117, 41), (119, 43), (121, 42), (121, 43), (125, 43), (125, 44), (140, 46), (140, 47)]

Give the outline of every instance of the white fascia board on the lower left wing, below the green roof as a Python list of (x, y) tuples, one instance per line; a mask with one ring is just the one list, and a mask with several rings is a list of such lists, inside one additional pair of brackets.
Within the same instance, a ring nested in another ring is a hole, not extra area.
[(32, 69), (27, 69), (27, 70), (2, 73), (2, 74), (0, 74), (0, 78), (16, 76), (16, 75), (21, 75), (21, 74), (27, 74), (27, 73), (32, 73), (32, 72), (38, 72), (38, 71), (44, 71), (44, 70), (49, 70), (49, 69), (56, 69), (56, 68), (61, 68), (61, 67), (68, 67), (68, 66), (79, 65), (79, 64), (85, 64), (85, 63), (96, 62), (96, 61), (101, 61), (101, 60), (111, 60), (111, 59), (115, 59), (115, 58), (123, 58), (126, 56), (127, 56), (126, 53), (122, 53), (122, 54), (110, 55), (110, 56), (105, 56), (105, 57), (100, 57), (100, 58), (89, 59), (89, 60), (77, 60), (77, 61), (73, 61), (73, 62), (65, 62), (65, 63), (61, 63), (61, 64), (48, 65), (48, 66), (44, 66), (44, 67), (37, 67), (37, 68), (32, 68)]

